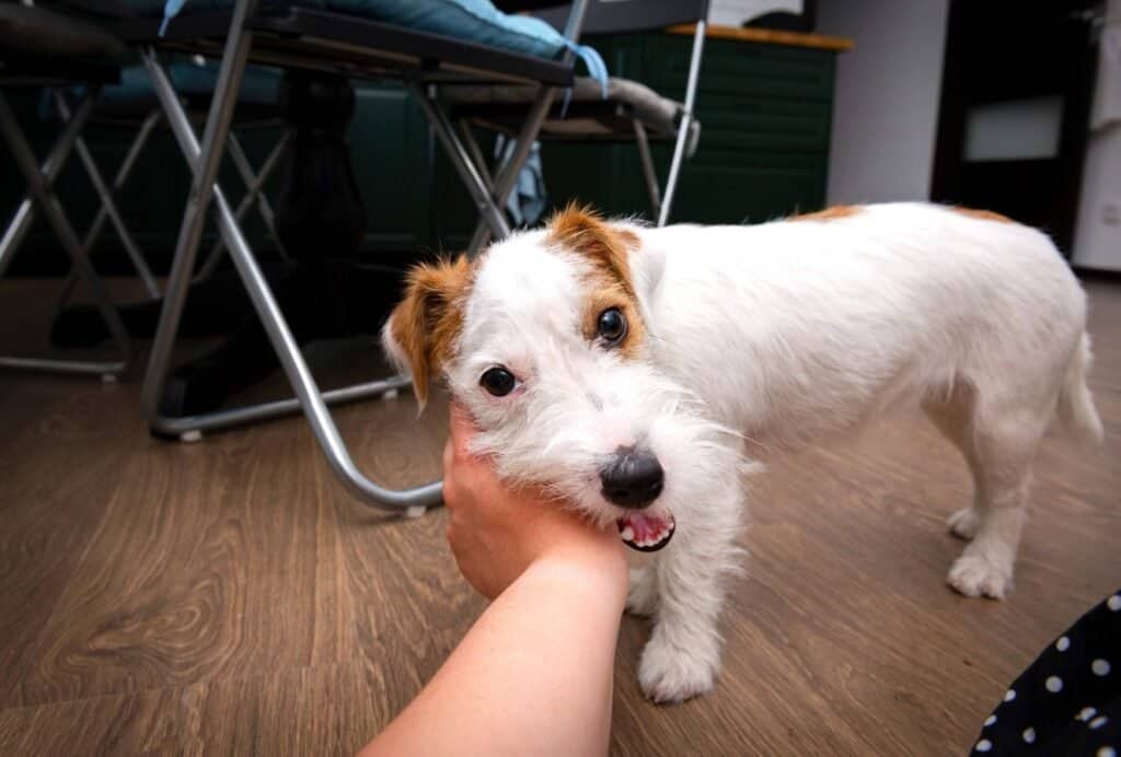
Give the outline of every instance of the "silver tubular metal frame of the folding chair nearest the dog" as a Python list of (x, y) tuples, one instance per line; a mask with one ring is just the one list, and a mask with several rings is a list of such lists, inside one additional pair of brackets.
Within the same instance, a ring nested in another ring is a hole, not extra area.
[[(197, 440), (204, 431), (278, 418), (302, 410), (312, 427), (319, 448), (326, 457), (327, 464), (352, 494), (378, 508), (404, 513), (408, 516), (418, 516), (425, 512), (426, 507), (438, 504), (442, 483), (434, 482), (404, 490), (388, 489), (373, 483), (355, 466), (327, 409), (328, 405), (351, 402), (362, 398), (378, 396), (387, 392), (405, 389), (410, 385), (409, 381), (400, 376), (393, 376), (330, 392), (319, 390), (299, 346), (296, 344), (285, 321), (284, 315), (277, 306), (276, 298), (261, 273), (252, 249), (241, 231), (237, 213), (231, 208), (222, 188), (216, 184), (221, 156), (223, 155), (224, 146), (229, 141), (230, 124), (241, 77), (247, 62), (250, 59), (251, 52), (254, 49), (258, 35), (262, 34), (262, 28), (268, 28), (267, 26), (261, 27), (258, 19), (254, 19), (256, 7), (257, 0), (235, 0), (228, 30), (225, 30), (217, 83), (201, 141), (187, 119), (182, 103), (176, 96), (174, 86), (157, 57), (155, 47), (150, 44), (142, 47), (142, 59), (152, 77), (164, 114), (193, 172), (191, 194), (184, 211), (172, 272), (164, 296), (159, 326), (145, 376), (145, 410), (149, 423), (155, 431), (178, 436), (186, 441)], [(586, 0), (578, 0), (573, 6), (565, 27), (565, 36), (569, 40), (576, 39), (578, 36), (585, 7)], [(302, 15), (300, 17), (306, 18), (313, 26), (322, 19), (322, 15), (309, 11), (297, 11), (296, 15)], [(288, 18), (290, 19), (291, 17)], [(183, 22), (187, 20), (185, 18)], [(253, 21), (252, 25), (250, 24), (251, 20)], [(288, 22), (288, 19), (271, 21), (266, 19), (266, 21), (272, 24), (274, 27), (277, 25), (282, 27), (284, 24)], [(196, 19), (194, 22), (205, 24), (206, 19)], [(180, 24), (180, 20), (176, 20), (176, 24)], [(385, 28), (378, 27), (378, 25), (368, 26), (373, 31), (382, 35), (382, 39), (393, 39), (392, 34), (386, 35)], [(129, 34), (124, 34), (123, 36), (126, 39), (130, 37)], [(290, 38), (281, 37), (281, 39), (287, 44), (287, 40)], [(322, 41), (314, 38), (314, 36), (311, 39), (315, 44)], [(326, 41), (330, 43), (331, 40)], [(213, 48), (200, 49), (192, 47), (189, 43), (176, 41), (174, 38), (169, 44), (176, 49), (186, 48), (191, 52), (202, 52), (212, 55), (215, 53)], [(314, 53), (309, 57), (293, 58), (287, 57), (284, 50), (278, 50), (269, 45), (263, 45), (260, 54), (254, 55), (254, 59), (267, 60), (272, 65), (281, 66), (300, 65), (305, 67), (330, 68), (327, 63), (322, 57), (315, 57)], [(325, 45), (325, 48), (335, 49), (330, 45)], [(535, 81), (534, 76), (526, 73), (510, 73), (509, 71), (489, 71), (484, 65), (472, 64), (470, 59), (465, 62), (461, 59), (446, 69), (438, 65), (438, 58), (418, 59), (416, 66), (409, 66), (402, 63), (407, 60), (409, 55), (405, 49), (396, 53), (391, 58), (380, 56), (373, 60), (367, 60), (359, 53), (361, 50), (355, 48), (353, 44), (344, 48), (346, 72), (350, 75), (365, 74), (377, 77), (398, 77), (409, 83), (424, 112), (428, 116), (433, 130), (446, 149), (467, 190), (471, 193), (490, 233), (497, 239), (508, 235), (510, 226), (500, 209), (501, 204), (495, 202), (495, 197), (502, 193), (492, 193), (491, 189), (492, 187), (497, 187), (501, 190), (503, 187), (512, 187), (513, 178), (529, 155), (529, 149), (540, 129), (540, 124), (553, 103), (557, 84), (553, 82), (546, 83), (545, 80), (537, 80), (540, 83), (540, 88), (519, 133), (518, 149), (513, 151), (503, 171), (499, 174), (495, 183), (491, 185), (484, 179), (484, 163), (478, 163), (473, 159), (470, 148), (456, 134), (455, 129), (452, 127), (437, 100), (436, 87), (433, 83), (446, 81), (450, 77), (463, 78), (464, 76), (472, 77), (474, 81), (497, 80), (532, 83)], [(467, 57), (470, 58), (470, 56)], [(569, 66), (567, 77), (571, 81), (571, 55), (565, 63)], [(509, 188), (506, 189), (506, 194), (509, 194)], [(234, 267), (249, 292), (257, 316), (268, 334), (296, 396), (288, 400), (223, 410), (203, 415), (170, 418), (159, 412), (159, 398), (169, 373), (176, 334), (183, 315), (183, 307), (186, 301), (192, 273), (195, 268), (203, 222), (206, 211), (212, 203), (216, 211), (217, 226), (222, 242), (229, 250)]]

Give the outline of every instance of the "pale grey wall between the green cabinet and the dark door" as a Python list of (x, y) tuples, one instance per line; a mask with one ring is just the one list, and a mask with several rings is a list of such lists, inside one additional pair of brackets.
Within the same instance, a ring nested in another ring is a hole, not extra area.
[(830, 204), (928, 199), (949, 0), (821, 0), (837, 63)]

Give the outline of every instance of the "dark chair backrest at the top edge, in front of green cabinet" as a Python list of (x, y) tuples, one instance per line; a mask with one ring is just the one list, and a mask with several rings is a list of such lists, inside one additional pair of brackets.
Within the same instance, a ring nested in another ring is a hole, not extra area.
[[(508, 12), (530, 11), (563, 29), (571, 6), (556, 0), (499, 0)], [(708, 17), (708, 0), (589, 0), (582, 35), (651, 31), (675, 24), (696, 24)]]

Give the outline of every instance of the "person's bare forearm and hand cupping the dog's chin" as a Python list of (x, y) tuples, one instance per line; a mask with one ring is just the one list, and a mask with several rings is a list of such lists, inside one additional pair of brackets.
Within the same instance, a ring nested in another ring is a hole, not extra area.
[(447, 540), (493, 602), (428, 685), (360, 757), (603, 755), (628, 569), (597, 530), (471, 457), (471, 420), (452, 405), (444, 449)]

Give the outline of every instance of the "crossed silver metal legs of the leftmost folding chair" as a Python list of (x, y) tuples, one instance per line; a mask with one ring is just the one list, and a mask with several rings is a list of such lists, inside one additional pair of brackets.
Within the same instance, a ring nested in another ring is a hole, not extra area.
[(117, 312), (117, 308), (113, 307), (112, 299), (109, 297), (109, 291), (105, 289), (104, 282), (98, 278), (98, 273), (90, 263), (90, 259), (82, 250), (77, 234), (74, 232), (74, 227), (66, 217), (66, 212), (63, 209), (62, 203), (58, 202), (58, 197), (54, 191), (54, 180), (62, 170), (62, 166), (70, 155), (71, 149), (74, 147), (74, 143), (77, 141), (85, 122), (89, 120), (93, 108), (93, 100), (96, 95), (98, 92), (94, 90), (86, 95), (85, 100), (82, 101), (78, 105), (78, 111), (75, 113), (75, 118), (70, 124), (67, 124), (63, 137), (59, 139), (55, 149), (50, 151), (44, 167), (40, 168), (35, 162), (35, 153), (31, 151), (30, 146), (24, 138), (24, 133), (19, 129), (19, 123), (16, 121), (16, 115), (12, 113), (7, 97), (4, 97), (3, 93), (0, 92), (0, 132), (3, 133), (3, 138), (8, 142), (12, 157), (16, 160), (16, 165), (19, 167), (20, 172), (24, 174), (24, 178), (27, 180), (27, 186), (30, 191), (30, 202), (25, 200), (24, 204), (20, 205), (20, 208), (17, 212), (16, 217), (12, 219), (8, 232), (4, 234), (3, 241), (0, 242), (0, 274), (2, 274), (3, 269), (12, 258), (16, 246), (18, 246), (18, 243), (22, 240), (24, 234), (26, 234), (27, 228), (30, 226), (35, 215), (34, 206), (38, 206), (46, 216), (47, 222), (54, 228), (54, 232), (58, 236), (58, 241), (66, 251), (66, 254), (68, 254), (73, 261), (74, 268), (90, 287), (98, 310), (105, 324), (109, 326), (109, 331), (112, 335), (113, 340), (117, 343), (122, 358), (119, 361), (68, 361), (33, 357), (0, 357), (0, 366), (31, 371), (55, 371), (63, 373), (96, 373), (106, 377), (115, 376), (128, 367), (128, 362), (131, 357), (131, 345), (129, 343), (128, 333), (124, 329), (124, 324), (121, 321), (120, 315)]

